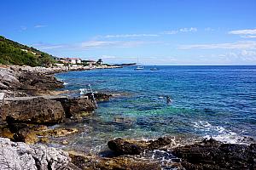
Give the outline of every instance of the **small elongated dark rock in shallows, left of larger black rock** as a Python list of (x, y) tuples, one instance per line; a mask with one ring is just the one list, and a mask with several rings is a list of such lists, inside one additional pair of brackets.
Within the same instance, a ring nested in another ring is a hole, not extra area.
[(108, 142), (108, 148), (119, 155), (138, 155), (143, 150), (159, 150), (166, 145), (174, 144), (171, 137), (156, 140), (113, 139)]

